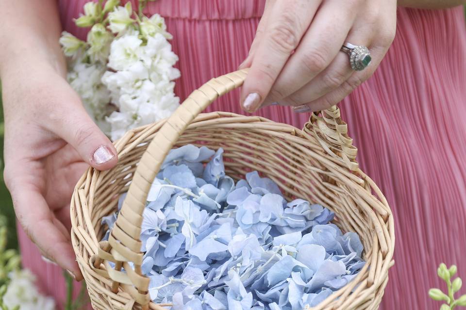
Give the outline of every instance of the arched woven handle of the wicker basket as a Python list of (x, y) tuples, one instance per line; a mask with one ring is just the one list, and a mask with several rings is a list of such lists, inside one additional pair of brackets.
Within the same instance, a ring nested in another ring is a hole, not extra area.
[[(116, 263), (115, 269), (110, 268), (110, 265), (105, 263), (108, 275), (113, 280), (112, 291), (116, 293), (118, 285), (121, 283), (125, 286), (126, 291), (133, 296), (134, 300), (143, 306), (143, 309), (148, 309), (150, 297), (148, 294), (149, 279), (141, 273), (143, 253), (140, 251), (141, 241), (139, 236), (143, 220), (142, 214), (146, 206), (150, 186), (166, 155), (183, 134), (186, 127), (217, 97), (240, 87), (247, 73), (248, 69), (242, 69), (211, 79), (191, 93), (183, 104), (166, 120), (139, 161), (108, 242), (100, 244), (99, 258), (94, 262), (94, 267), (98, 268), (101, 260)], [(338, 109), (335, 109), (333, 107), (326, 110), (323, 115), (339, 116)], [(316, 127), (312, 128), (316, 130), (315, 135), (319, 137), (318, 139), (324, 139), (326, 135), (331, 135), (329, 137), (333, 139), (333, 128), (330, 128), (331, 126), (338, 128), (339, 132), (342, 132), (341, 124), (343, 122), (337, 120), (337, 118), (332, 119), (326, 116), (318, 118), (317, 114), (313, 114), (312, 120), (316, 121), (316, 123), (310, 124), (316, 124)], [(330, 129), (324, 128), (325, 126)], [(345, 135), (342, 135), (342, 137), (345, 137)], [(134, 263), (134, 269), (131, 268), (128, 262)], [(122, 267), (125, 268), (126, 274), (120, 271)]]

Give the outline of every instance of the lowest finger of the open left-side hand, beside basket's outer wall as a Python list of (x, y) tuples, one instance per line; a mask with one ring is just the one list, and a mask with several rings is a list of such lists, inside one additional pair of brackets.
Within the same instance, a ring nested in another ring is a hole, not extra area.
[(15, 212), (24, 231), (43, 256), (69, 270), (76, 279), (82, 279), (69, 231), (54, 217), (39, 191), (21, 181), (10, 187), (13, 188)]

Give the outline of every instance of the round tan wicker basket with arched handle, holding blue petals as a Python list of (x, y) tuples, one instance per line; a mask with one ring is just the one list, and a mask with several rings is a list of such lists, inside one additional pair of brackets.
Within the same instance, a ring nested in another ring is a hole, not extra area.
[[(277, 182), (287, 199), (300, 197), (334, 211), (335, 224), (359, 234), (368, 263), (357, 278), (313, 309), (378, 309), (393, 265), (393, 217), (379, 188), (359, 170), (357, 149), (339, 109), (313, 114), (303, 130), (258, 116), (200, 114), (218, 96), (241, 86), (246, 74), (247, 69), (214, 78), (168, 120), (128, 132), (116, 141), (118, 165), (104, 172), (90, 168), (78, 182), (71, 200), (71, 239), (94, 309), (169, 306), (150, 301), (149, 279), (141, 275), (141, 215), (164, 157), (173, 146), (188, 143), (222, 147), (226, 173), (233, 178), (257, 170)], [(115, 212), (125, 191), (109, 241), (99, 242), (105, 230), (101, 218)]]

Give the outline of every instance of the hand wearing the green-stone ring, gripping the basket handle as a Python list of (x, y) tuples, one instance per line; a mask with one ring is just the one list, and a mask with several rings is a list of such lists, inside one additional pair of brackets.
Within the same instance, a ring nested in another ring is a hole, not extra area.
[[(396, 0), (267, 0), (241, 93), (253, 112), (278, 103), (296, 112), (333, 106), (377, 69), (396, 31)], [(345, 42), (366, 46), (372, 61), (351, 69)]]

